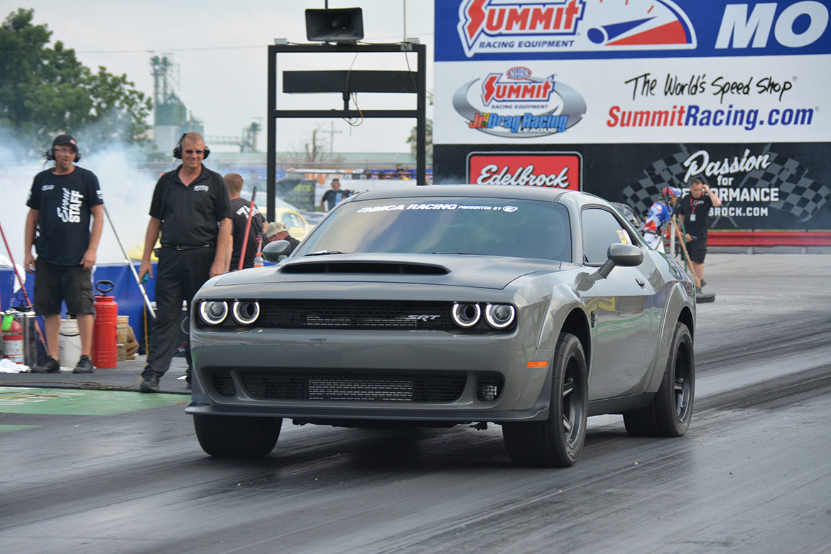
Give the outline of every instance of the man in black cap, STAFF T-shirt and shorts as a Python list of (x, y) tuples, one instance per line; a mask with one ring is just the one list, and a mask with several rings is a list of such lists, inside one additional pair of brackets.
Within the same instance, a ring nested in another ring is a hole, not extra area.
[[(35, 274), (35, 311), (46, 325), (47, 359), (32, 373), (57, 373), (61, 302), (76, 316), (81, 335), (81, 359), (73, 373), (93, 373), (92, 281), (98, 242), (104, 226), (104, 201), (98, 178), (89, 169), (76, 166), (81, 159), (78, 143), (70, 135), (59, 135), (47, 151), (55, 167), (35, 176), (26, 205), (26, 271)], [(92, 230), (90, 231), (90, 220)], [(36, 236), (37, 230), (37, 236)], [(37, 260), (32, 255), (37, 249)]]

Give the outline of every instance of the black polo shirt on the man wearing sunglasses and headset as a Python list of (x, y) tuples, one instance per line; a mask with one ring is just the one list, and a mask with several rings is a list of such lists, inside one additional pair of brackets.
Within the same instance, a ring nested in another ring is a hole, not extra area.
[(180, 168), (161, 176), (150, 202), (150, 216), (161, 220), (161, 244), (216, 244), (219, 222), (231, 217), (228, 187), (222, 175), (204, 165), (199, 177), (184, 186)]

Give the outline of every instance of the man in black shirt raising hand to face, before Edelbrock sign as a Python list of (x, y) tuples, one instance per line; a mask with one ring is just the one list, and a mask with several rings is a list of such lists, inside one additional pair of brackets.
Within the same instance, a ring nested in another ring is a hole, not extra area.
[(675, 213), (684, 223), (686, 252), (696, 287), (704, 286), (704, 257), (707, 254), (707, 218), (710, 208), (721, 205), (719, 197), (704, 184), (701, 177), (690, 179), (690, 192), (676, 203)]

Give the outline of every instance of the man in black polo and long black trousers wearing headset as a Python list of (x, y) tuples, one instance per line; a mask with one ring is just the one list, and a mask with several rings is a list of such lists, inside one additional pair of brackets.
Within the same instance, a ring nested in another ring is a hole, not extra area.
[[(150, 274), (150, 254), (161, 232), (159, 276), (155, 282), (156, 320), (142, 372), (141, 392), (158, 392), (159, 378), (170, 368), (179, 333), (182, 301), (190, 300), (210, 277), (228, 272), (231, 210), (222, 176), (204, 167), (210, 150), (199, 133), (182, 135), (173, 150), (182, 160), (161, 176), (150, 203), (150, 223), (139, 278)], [(190, 368), (190, 349), (185, 356)], [(188, 373), (188, 383), (190, 374)]]

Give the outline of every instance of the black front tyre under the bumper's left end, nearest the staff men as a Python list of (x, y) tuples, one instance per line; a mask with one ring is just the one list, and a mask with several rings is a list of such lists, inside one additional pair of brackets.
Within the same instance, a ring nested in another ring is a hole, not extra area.
[(194, 415), (199, 446), (211, 456), (262, 458), (277, 444), (283, 419), (231, 415)]

